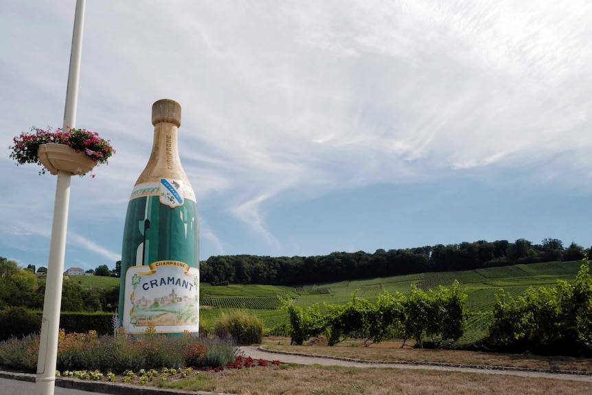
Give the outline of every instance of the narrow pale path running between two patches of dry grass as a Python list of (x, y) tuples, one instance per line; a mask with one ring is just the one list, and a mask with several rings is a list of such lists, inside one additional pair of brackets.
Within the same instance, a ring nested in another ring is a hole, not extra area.
[(512, 374), (523, 377), (540, 377), (545, 379), (587, 381), (592, 383), (592, 372), (573, 370), (548, 370), (536, 368), (515, 368), (505, 366), (464, 365), (437, 362), (407, 362), (407, 361), (366, 361), (343, 357), (328, 357), (312, 354), (299, 354), (276, 350), (266, 350), (261, 346), (242, 346), (240, 352), (245, 357), (253, 359), (279, 359), (282, 363), (297, 363), (299, 365), (348, 366), (351, 368), (400, 368), (421, 370), (442, 370), (448, 372), (466, 372), (481, 374)]

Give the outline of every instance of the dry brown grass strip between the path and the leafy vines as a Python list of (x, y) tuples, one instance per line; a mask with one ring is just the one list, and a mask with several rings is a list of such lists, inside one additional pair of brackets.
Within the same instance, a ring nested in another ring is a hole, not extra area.
[(264, 348), (268, 350), (298, 352), (301, 354), (328, 355), (332, 357), (376, 361), (462, 363), (465, 365), (514, 366), (517, 368), (592, 372), (592, 359), (541, 357), (532, 354), (503, 354), (499, 352), (421, 350), (409, 347), (400, 348), (400, 345), (401, 343), (397, 341), (386, 341), (364, 347), (362, 341), (348, 341), (333, 347), (290, 346), (289, 338), (269, 337), (265, 339)]

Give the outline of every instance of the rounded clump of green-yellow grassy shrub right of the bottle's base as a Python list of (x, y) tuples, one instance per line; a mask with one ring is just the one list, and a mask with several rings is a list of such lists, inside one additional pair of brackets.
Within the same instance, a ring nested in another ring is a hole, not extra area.
[(220, 315), (214, 322), (214, 333), (221, 338), (231, 335), (239, 344), (260, 344), (263, 323), (254, 315), (237, 310)]

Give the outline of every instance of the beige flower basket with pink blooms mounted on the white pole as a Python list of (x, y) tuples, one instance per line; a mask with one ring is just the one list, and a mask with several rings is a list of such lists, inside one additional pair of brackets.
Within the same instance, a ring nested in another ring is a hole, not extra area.
[[(43, 166), (39, 174), (46, 170), (58, 174), (58, 170), (84, 175), (100, 163), (108, 163), (115, 153), (109, 140), (102, 139), (97, 133), (85, 129), (69, 129), (55, 132), (32, 127), (32, 133), (21, 133), (14, 137), (14, 146), (10, 146), (10, 157), (16, 160), (16, 166), (24, 163), (37, 163)], [(94, 174), (93, 174), (94, 177)]]

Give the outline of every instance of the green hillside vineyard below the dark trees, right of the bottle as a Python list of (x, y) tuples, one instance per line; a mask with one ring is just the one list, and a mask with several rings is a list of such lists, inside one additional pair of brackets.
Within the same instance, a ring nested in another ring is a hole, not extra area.
[(470, 271), (418, 273), (389, 278), (342, 281), (332, 284), (308, 284), (297, 287), (271, 285), (210, 286), (201, 284), (201, 319), (206, 324), (223, 311), (245, 309), (264, 321), (266, 328), (288, 321), (282, 300), (293, 300), (297, 306), (307, 308), (312, 304), (345, 304), (352, 297), (376, 301), (387, 291), (407, 294), (411, 284), (423, 291), (450, 287), (456, 280), (467, 293), (466, 311), (468, 327), (461, 341), (473, 341), (485, 335), (490, 313), (496, 302), (495, 295), (501, 289), (508, 295), (521, 295), (530, 286), (554, 286), (557, 280), (572, 282), (580, 269), (581, 261), (519, 264), (508, 267), (490, 267)]

